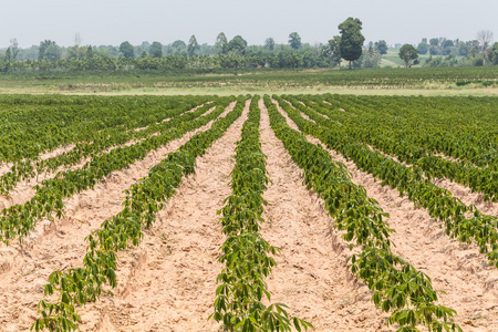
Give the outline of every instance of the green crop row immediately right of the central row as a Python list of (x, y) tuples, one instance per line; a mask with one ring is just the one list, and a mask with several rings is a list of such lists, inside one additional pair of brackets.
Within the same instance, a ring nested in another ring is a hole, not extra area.
[[(373, 302), (391, 312), (388, 323), (400, 324), (398, 331), (418, 331), (421, 324), (434, 331), (461, 331), (453, 322), (456, 312), (435, 304), (438, 298), (430, 279), (391, 251), (393, 230), (378, 204), (351, 181), (344, 165), (291, 129), (269, 96), (264, 96), (264, 103), (277, 137), (304, 170), (307, 186), (323, 198), (325, 209), (335, 218), (334, 228), (345, 231), (342, 237), (351, 249), (361, 247), (361, 253), (349, 259), (351, 271), (369, 286)], [(298, 113), (289, 108), (289, 114)]]

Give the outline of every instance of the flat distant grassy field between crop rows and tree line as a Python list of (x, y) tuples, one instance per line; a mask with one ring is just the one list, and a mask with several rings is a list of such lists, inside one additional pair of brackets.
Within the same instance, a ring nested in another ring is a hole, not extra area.
[[(388, 54), (385, 64), (401, 61)], [(1, 93), (58, 94), (422, 94), (497, 95), (498, 66), (237, 72), (46, 72), (0, 76)]]

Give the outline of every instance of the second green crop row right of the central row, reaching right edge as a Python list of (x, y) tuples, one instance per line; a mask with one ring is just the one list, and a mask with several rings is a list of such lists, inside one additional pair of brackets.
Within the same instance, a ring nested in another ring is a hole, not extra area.
[[(278, 98), (278, 97), (277, 97)], [(430, 183), (417, 166), (408, 167), (370, 149), (350, 136), (347, 127), (333, 124), (317, 116), (310, 108), (297, 103), (297, 110), (311, 116), (315, 124), (304, 120), (300, 112), (282, 103), (282, 106), (299, 128), (315, 136), (330, 148), (340, 152), (355, 163), (360, 169), (380, 178), (383, 185), (397, 188), (401, 195), (427, 209), (428, 214), (443, 222), (446, 234), (465, 243), (475, 242), (486, 253), (491, 264), (498, 268), (498, 218), (480, 212), (475, 206), (466, 206), (447, 189)], [(471, 214), (468, 217), (468, 214)]]

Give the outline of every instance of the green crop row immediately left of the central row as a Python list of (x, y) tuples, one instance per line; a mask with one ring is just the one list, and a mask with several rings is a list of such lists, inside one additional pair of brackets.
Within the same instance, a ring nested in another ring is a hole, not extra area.
[(81, 321), (76, 307), (96, 301), (107, 290), (115, 288), (116, 252), (138, 246), (144, 237), (143, 228), (149, 228), (164, 201), (175, 194), (184, 176), (195, 173), (196, 158), (206, 153), (228, 127), (242, 114), (243, 100), (239, 97), (235, 108), (227, 116), (217, 120), (206, 132), (197, 133), (187, 143), (170, 153), (154, 166), (147, 177), (126, 190), (124, 208), (86, 240), (89, 248), (82, 268), (65, 272), (54, 271), (44, 288), (45, 295), (58, 293), (56, 302), (45, 299), (39, 303), (41, 318), (32, 330), (73, 331)]

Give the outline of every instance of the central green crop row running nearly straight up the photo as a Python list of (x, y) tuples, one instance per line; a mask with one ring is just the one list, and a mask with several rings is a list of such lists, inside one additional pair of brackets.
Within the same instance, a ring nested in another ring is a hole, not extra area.
[[(217, 281), (216, 321), (228, 331), (301, 331), (312, 325), (298, 318), (289, 318), (287, 305), (271, 301), (264, 279), (276, 266), (271, 257), (280, 249), (268, 243), (259, 234), (263, 204), (262, 195), (270, 181), (266, 156), (259, 141), (259, 96), (253, 96), (248, 120), (237, 143), (236, 166), (231, 172), (232, 194), (225, 200), (220, 224), (227, 236), (220, 247), (219, 261), (225, 264)], [(292, 323), (291, 323), (292, 321)]]

